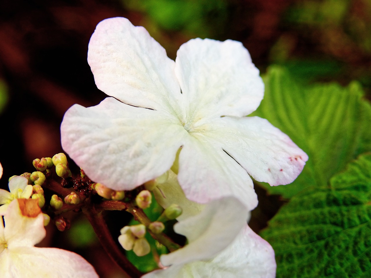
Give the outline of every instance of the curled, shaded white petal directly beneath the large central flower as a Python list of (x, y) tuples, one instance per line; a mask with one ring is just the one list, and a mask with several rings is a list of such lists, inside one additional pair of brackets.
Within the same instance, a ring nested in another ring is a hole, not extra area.
[(211, 259), (226, 248), (246, 225), (247, 209), (236, 198), (212, 201), (204, 210), (174, 225), (174, 231), (185, 235), (189, 244), (161, 256), (163, 265), (185, 264)]

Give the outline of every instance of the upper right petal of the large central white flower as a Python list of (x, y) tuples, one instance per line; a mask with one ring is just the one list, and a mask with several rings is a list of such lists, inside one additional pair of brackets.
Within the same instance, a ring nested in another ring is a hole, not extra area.
[(263, 99), (259, 70), (240, 42), (190, 40), (177, 52), (175, 73), (194, 121), (249, 115)]

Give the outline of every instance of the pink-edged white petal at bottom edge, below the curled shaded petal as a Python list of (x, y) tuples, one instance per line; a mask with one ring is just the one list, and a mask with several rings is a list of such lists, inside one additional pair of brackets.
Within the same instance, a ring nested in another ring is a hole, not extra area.
[(249, 226), (226, 249), (209, 261), (172, 265), (143, 278), (274, 278), (276, 261), (272, 247)]

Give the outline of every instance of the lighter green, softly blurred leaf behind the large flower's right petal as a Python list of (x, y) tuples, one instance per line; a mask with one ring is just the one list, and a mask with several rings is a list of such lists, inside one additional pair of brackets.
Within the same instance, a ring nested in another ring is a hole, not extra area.
[(265, 96), (252, 115), (268, 119), (309, 156), (290, 185), (263, 184), (270, 193), (290, 198), (306, 186), (326, 186), (348, 162), (371, 150), (371, 108), (358, 83), (303, 85), (278, 66), (263, 80)]

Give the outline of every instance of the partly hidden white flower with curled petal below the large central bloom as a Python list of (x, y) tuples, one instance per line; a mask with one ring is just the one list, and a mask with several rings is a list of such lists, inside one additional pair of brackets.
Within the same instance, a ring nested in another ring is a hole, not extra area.
[(246, 225), (247, 211), (238, 200), (228, 197), (206, 205), (193, 203), (185, 199), (174, 173), (154, 193), (165, 208), (172, 202), (183, 204), (184, 214), (177, 218), (174, 231), (185, 235), (188, 245), (162, 255), (162, 265), (170, 267), (143, 278), (275, 277), (274, 251)]

